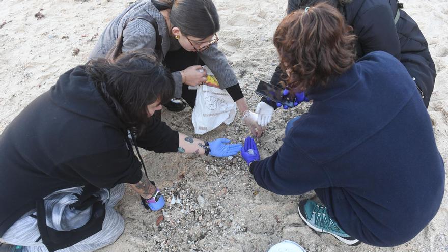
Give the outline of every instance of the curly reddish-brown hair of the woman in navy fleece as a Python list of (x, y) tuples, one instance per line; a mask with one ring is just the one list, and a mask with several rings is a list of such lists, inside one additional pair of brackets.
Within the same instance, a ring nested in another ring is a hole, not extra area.
[(305, 91), (325, 86), (329, 78), (347, 71), (355, 62), (356, 36), (334, 7), (319, 3), (306, 12), (286, 16), (274, 34), (282, 76), (288, 89)]

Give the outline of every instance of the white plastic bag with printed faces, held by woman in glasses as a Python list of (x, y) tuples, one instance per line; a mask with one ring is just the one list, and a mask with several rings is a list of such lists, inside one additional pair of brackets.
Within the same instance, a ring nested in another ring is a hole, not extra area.
[[(207, 73), (214, 77), (209, 70), (207, 70)], [(207, 85), (198, 86), (193, 115), (191, 116), (195, 134), (205, 134), (221, 125), (221, 123), (229, 125), (235, 119), (235, 115), (236, 103), (227, 90)]]

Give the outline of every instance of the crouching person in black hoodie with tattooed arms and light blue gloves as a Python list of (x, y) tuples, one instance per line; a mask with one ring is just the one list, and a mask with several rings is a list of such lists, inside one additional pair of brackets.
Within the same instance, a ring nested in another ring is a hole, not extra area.
[(228, 139), (204, 142), (151, 117), (173, 92), (171, 73), (137, 52), (61, 75), (0, 136), (0, 248), (94, 251), (115, 242), (124, 221), (113, 207), (124, 183), (147, 208), (162, 208), (133, 145), (137, 153), (238, 153)]

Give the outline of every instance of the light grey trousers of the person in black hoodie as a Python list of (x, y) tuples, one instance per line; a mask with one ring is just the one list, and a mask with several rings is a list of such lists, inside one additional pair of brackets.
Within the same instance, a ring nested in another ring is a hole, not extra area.
[[(124, 231), (124, 220), (114, 210), (115, 205), (123, 198), (124, 184), (119, 184), (110, 189), (109, 201), (105, 205), (106, 216), (103, 229), (98, 233), (86, 238), (75, 245), (58, 250), (58, 252), (88, 252), (95, 251), (101, 247), (114, 243)], [(3, 235), (2, 240), (9, 244), (23, 246), (24, 252), (48, 252), (37, 227), (37, 220), (30, 217), (35, 213), (32, 210), (17, 220)]]

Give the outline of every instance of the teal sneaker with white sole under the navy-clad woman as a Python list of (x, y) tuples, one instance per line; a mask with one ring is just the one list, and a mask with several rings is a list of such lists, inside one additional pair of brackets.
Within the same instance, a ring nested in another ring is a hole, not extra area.
[(347, 245), (358, 245), (360, 242), (342, 230), (328, 214), (327, 208), (312, 200), (299, 202), (300, 218), (317, 232), (329, 233)]

